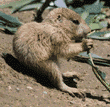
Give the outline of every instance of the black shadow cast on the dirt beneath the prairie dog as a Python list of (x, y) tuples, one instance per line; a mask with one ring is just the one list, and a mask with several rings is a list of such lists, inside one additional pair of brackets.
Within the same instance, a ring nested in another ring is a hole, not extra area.
[[(42, 84), (43, 86), (46, 86), (48, 88), (54, 88), (54, 86), (52, 85), (52, 83), (49, 81), (49, 79), (45, 76), (45, 75), (39, 75), (37, 74), (35, 71), (29, 69), (28, 67), (24, 66), (23, 64), (21, 64), (16, 58), (14, 58), (11, 54), (8, 53), (3, 53), (2, 54), (2, 58), (5, 60), (5, 62), (14, 70), (16, 70), (17, 72), (20, 72), (22, 74), (31, 76), (33, 78), (36, 79), (36, 81), (40, 84)], [(41, 70), (41, 69), (37, 69), (37, 70)], [(66, 81), (64, 81), (68, 86), (70, 87), (76, 87), (77, 88), (77, 83), (73, 82), (73, 79), (66, 79)], [(74, 84), (74, 85), (73, 85)], [(76, 94), (77, 96), (77, 94)], [(85, 97), (87, 98), (91, 98), (91, 99), (97, 99), (99, 101), (104, 101), (106, 104), (110, 104), (110, 102), (106, 101), (105, 98), (103, 98), (102, 96), (94, 96), (91, 93), (86, 93)], [(110, 100), (110, 97), (107, 98)], [(82, 99), (83, 101), (85, 101), (85, 98)]]

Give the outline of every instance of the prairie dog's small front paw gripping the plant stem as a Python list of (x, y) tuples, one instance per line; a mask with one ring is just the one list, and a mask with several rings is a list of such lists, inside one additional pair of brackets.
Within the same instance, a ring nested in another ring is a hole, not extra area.
[(92, 39), (84, 39), (82, 41), (82, 48), (83, 51), (88, 51), (93, 47), (93, 40)]

